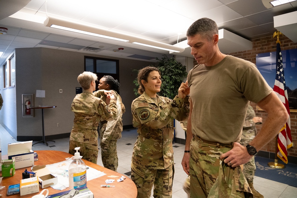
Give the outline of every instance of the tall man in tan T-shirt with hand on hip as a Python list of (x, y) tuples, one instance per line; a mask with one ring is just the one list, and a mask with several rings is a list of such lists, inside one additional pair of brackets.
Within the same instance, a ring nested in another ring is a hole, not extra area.
[[(188, 73), (191, 102), (182, 166), (190, 174), (193, 198), (218, 197), (219, 190), (224, 194), (221, 197), (234, 193), (252, 196), (239, 166), (270, 142), (289, 117), (256, 65), (220, 52), (218, 32), (216, 23), (208, 18), (195, 21), (187, 30), (198, 65)], [(257, 103), (268, 117), (259, 134), (244, 147), (239, 141), (249, 101)], [(230, 180), (224, 186), (217, 183), (219, 188), (214, 189), (217, 178), (226, 178), (219, 175), (223, 166)], [(240, 188), (231, 191), (238, 185)]]

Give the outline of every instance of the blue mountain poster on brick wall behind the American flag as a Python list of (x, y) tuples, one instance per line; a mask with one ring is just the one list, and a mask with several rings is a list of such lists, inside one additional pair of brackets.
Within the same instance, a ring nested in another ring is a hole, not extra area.
[[(289, 108), (297, 112), (297, 49), (282, 50), (282, 62), (285, 73)], [(276, 76), (276, 51), (256, 55), (256, 65), (273, 89)]]

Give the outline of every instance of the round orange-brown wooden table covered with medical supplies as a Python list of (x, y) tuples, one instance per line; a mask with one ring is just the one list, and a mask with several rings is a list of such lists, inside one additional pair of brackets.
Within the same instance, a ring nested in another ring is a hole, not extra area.
[[(72, 157), (73, 155), (63, 152), (63, 151), (55, 151), (55, 150), (37, 150), (35, 151), (38, 154), (38, 161), (34, 161), (34, 165), (47, 165), (47, 164), (55, 164), (57, 162), (65, 161), (65, 158)], [(7, 159), (7, 155), (3, 155), (2, 159)], [(94, 169), (97, 169), (99, 171), (102, 171), (106, 173), (106, 175), (102, 177), (97, 177), (95, 179), (87, 181), (87, 187), (92, 191), (94, 194), (94, 197), (108, 197), (108, 198), (136, 198), (137, 196), (137, 188), (134, 184), (134, 182), (129, 179), (129, 177), (125, 176), (126, 179), (114, 183), (110, 183), (110, 185), (115, 186), (114, 188), (100, 188), (100, 184), (106, 184), (105, 180), (107, 179), (119, 179), (122, 174), (109, 170), (107, 168), (104, 168), (98, 164), (94, 164), (92, 162), (84, 160), (84, 163), (92, 167)], [(31, 170), (31, 167), (25, 167), (21, 169), (15, 170), (15, 175), (12, 177), (3, 177), (2, 182), (0, 183), (0, 186), (5, 186), (5, 190), (0, 191), (0, 194), (2, 194), (2, 197), (10, 197), (10, 198), (31, 198), (36, 194), (39, 193), (32, 193), (28, 195), (20, 196), (20, 194), (14, 194), (7, 196), (7, 188), (9, 185), (20, 183), (20, 180), (22, 179), (22, 173), (25, 171), (25, 169)], [(88, 172), (87, 172), (88, 174)], [(119, 176), (116, 178), (108, 177), (110, 175)], [(56, 194), (62, 191), (67, 191), (69, 188), (66, 188), (64, 190), (56, 190), (52, 187), (46, 187), (49, 190), (49, 195)], [(41, 192), (43, 189), (39, 188), (39, 191)]]

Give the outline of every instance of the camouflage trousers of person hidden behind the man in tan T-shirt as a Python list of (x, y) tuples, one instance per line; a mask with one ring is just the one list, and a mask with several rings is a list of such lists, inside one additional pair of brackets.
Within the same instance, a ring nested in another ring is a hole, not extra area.
[[(241, 144), (246, 146), (255, 137), (256, 133), (250, 129), (248, 131), (243, 130), (241, 135)], [(243, 164), (243, 173), (248, 183), (253, 183), (254, 175), (256, 172), (255, 157), (253, 156), (246, 164)]]

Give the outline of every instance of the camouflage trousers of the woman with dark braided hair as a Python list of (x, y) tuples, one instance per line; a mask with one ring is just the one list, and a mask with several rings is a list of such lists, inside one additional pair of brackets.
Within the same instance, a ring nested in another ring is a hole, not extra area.
[(103, 166), (107, 169), (117, 171), (117, 140), (110, 140), (107, 144), (100, 141), (101, 159)]

